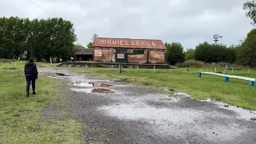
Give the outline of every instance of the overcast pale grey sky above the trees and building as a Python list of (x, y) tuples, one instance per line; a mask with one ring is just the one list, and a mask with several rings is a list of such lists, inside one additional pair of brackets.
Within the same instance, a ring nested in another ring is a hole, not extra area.
[[(41, 6), (34, 6), (33, 3)], [(246, 0), (0, 0), (0, 17), (62, 17), (74, 23), (78, 42), (93, 34), (108, 38), (152, 38), (182, 42), (185, 49), (223, 36), (238, 44), (253, 28), (242, 4)], [(54, 14), (54, 15), (52, 15)]]

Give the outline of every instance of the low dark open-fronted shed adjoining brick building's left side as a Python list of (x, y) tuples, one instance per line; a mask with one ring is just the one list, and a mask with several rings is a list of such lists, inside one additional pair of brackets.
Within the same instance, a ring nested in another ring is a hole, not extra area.
[(93, 61), (94, 49), (78, 48), (74, 54), (74, 61)]

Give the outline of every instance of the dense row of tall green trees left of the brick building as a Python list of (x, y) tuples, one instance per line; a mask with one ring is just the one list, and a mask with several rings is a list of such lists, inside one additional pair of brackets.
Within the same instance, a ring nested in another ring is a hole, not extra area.
[(28, 51), (38, 61), (69, 59), (76, 40), (73, 24), (62, 18), (0, 18), (0, 58), (18, 58)]

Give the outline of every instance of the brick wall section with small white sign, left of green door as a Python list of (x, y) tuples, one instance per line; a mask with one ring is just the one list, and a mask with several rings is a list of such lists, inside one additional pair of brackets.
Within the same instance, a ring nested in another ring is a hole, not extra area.
[(94, 61), (95, 62), (112, 62), (111, 49), (98, 49), (94, 48)]

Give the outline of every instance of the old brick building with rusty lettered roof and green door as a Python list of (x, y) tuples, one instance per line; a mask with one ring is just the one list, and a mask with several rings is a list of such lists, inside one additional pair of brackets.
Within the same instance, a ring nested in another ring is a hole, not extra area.
[(165, 63), (166, 46), (161, 40), (94, 38), (95, 62)]

